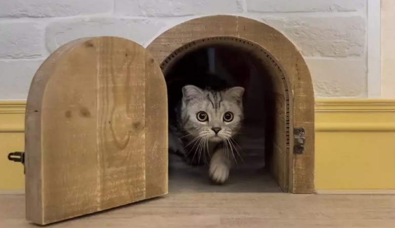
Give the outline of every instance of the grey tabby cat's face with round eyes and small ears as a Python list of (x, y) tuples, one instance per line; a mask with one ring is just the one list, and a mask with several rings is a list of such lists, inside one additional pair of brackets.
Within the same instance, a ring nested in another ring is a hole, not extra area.
[(185, 86), (182, 93), (182, 127), (192, 137), (223, 141), (240, 130), (244, 88), (213, 92)]

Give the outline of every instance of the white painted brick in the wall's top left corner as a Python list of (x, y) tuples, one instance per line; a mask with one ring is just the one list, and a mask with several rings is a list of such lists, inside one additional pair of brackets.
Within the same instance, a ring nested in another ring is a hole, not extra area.
[(67, 17), (112, 12), (113, 0), (3, 0), (0, 17)]

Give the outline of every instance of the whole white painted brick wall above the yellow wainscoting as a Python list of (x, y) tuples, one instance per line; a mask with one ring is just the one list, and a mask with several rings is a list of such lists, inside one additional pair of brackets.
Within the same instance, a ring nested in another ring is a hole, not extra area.
[(202, 15), (233, 14), (282, 31), (306, 57), (317, 97), (367, 96), (368, 0), (0, 0), (0, 99), (26, 99), (45, 57), (84, 36), (144, 46)]

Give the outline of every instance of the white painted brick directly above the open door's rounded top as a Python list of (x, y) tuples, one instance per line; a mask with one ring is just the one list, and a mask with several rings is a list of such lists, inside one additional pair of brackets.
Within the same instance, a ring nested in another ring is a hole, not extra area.
[(120, 36), (140, 45), (153, 37), (165, 24), (148, 19), (74, 18), (50, 23), (46, 29), (46, 43), (50, 52), (81, 37)]

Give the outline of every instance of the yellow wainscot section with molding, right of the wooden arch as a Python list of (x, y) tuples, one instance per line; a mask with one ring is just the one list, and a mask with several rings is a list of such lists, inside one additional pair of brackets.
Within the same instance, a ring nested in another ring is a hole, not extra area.
[(395, 189), (395, 100), (316, 100), (314, 183)]

